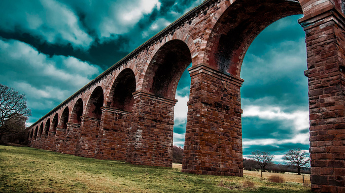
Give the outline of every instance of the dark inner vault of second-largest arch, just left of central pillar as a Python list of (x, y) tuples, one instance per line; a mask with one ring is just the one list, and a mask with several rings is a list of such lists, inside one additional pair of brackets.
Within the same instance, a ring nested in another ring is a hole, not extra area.
[(168, 41), (148, 65), (144, 88), (156, 96), (174, 99), (178, 81), (191, 63), (192, 56), (186, 43), (178, 39)]

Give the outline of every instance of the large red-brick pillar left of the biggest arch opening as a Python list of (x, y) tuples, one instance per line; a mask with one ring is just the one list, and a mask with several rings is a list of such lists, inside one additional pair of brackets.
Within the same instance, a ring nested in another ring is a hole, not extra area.
[(243, 176), (243, 80), (199, 64), (191, 76), (182, 172)]

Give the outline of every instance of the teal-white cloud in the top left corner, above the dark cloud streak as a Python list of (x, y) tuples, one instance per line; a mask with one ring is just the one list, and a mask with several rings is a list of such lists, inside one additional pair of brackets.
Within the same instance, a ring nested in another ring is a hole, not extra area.
[(19, 29), (49, 43), (71, 43), (75, 48), (87, 48), (93, 41), (77, 15), (55, 0), (6, 1), (0, 2), (0, 6), (6, 7), (0, 12), (0, 28), (7, 32)]

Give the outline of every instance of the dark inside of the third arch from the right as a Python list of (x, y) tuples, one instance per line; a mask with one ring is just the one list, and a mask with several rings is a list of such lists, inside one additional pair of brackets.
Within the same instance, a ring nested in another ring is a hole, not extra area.
[(132, 112), (133, 93), (136, 91), (136, 75), (126, 68), (116, 77), (109, 94), (109, 106)]

